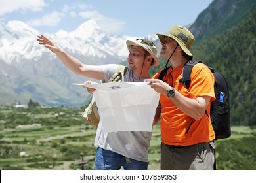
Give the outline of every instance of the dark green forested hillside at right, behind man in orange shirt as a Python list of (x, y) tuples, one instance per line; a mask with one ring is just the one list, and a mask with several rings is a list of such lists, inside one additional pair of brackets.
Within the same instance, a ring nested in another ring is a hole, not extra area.
[(256, 7), (231, 29), (194, 47), (196, 58), (221, 71), (230, 88), (232, 125), (256, 125)]

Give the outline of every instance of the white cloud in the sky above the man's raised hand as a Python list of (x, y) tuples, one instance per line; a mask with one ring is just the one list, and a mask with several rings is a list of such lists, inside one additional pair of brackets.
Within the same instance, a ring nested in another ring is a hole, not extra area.
[(32, 19), (32, 20), (26, 22), (26, 24), (28, 24), (32, 27), (37, 27), (37, 26), (42, 26), (42, 25), (56, 26), (56, 25), (58, 25), (58, 23), (62, 20), (62, 18), (64, 16), (65, 15), (62, 12), (53, 11), (50, 14), (45, 14), (42, 18)]

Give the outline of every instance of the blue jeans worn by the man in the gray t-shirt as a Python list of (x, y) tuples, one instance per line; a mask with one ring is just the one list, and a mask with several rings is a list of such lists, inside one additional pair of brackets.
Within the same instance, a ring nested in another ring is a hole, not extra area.
[(125, 156), (98, 148), (95, 156), (95, 170), (147, 170), (148, 162), (127, 159)]

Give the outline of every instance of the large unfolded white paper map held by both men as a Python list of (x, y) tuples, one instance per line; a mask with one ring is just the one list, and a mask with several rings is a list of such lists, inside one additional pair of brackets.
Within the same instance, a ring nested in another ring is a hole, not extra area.
[(105, 133), (152, 131), (160, 93), (148, 83), (108, 82), (83, 87), (96, 89), (93, 95)]

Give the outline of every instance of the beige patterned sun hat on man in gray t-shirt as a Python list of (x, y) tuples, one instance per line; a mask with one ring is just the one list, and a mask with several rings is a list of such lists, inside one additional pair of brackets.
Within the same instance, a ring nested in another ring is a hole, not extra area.
[(153, 57), (154, 62), (152, 63), (153, 67), (156, 67), (160, 64), (160, 61), (158, 59), (158, 56), (156, 54), (158, 53), (158, 49), (154, 45), (152, 41), (149, 41), (148, 39), (136, 39), (135, 41), (127, 40), (126, 45), (128, 50), (131, 49), (131, 46), (141, 46), (146, 50), (150, 56)]

